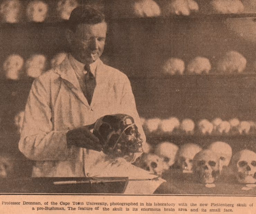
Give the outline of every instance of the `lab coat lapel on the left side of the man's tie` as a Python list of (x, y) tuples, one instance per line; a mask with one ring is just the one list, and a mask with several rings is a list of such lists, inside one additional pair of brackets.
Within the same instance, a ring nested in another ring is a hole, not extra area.
[(70, 88), (70, 90), (75, 94), (75, 96), (80, 99), (84, 105), (89, 106), (87, 99), (85, 98), (82, 89), (79, 85), (79, 81), (75, 75), (75, 71), (70, 65), (70, 62), (68, 60), (68, 57), (66, 57), (60, 66), (58, 66), (55, 71), (55, 73), (59, 74), (61, 78), (63, 79), (63, 82), (65, 85)]

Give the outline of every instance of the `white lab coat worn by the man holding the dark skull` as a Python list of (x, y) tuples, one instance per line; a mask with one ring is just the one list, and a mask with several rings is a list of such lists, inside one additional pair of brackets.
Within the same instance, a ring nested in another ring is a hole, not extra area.
[(145, 143), (146, 137), (127, 76), (100, 61), (96, 82), (89, 106), (67, 57), (56, 69), (47, 71), (33, 82), (19, 149), (29, 159), (36, 160), (34, 177), (155, 177), (124, 158), (109, 159), (103, 152), (67, 148), (68, 130), (93, 124), (104, 115), (117, 113), (134, 118)]

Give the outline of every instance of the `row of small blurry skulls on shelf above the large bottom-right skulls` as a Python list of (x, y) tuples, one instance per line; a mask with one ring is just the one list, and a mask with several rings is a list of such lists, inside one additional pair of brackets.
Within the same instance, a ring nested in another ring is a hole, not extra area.
[(150, 134), (171, 134), (171, 135), (250, 135), (256, 132), (256, 124), (254, 121), (232, 118), (230, 120), (222, 120), (214, 118), (212, 121), (201, 119), (197, 126), (192, 119), (183, 119), (180, 121), (176, 117), (168, 119), (159, 118), (140, 118), (145, 133)]

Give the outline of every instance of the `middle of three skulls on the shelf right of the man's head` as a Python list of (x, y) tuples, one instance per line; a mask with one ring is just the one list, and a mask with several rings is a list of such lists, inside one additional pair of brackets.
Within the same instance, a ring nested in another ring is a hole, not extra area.
[(204, 57), (195, 57), (187, 67), (188, 74), (209, 74), (211, 63), (209, 59)]

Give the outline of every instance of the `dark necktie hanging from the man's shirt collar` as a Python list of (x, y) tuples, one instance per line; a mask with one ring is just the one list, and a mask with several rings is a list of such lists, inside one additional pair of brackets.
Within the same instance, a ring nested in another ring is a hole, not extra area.
[(84, 76), (84, 82), (85, 82), (85, 86), (86, 86), (85, 97), (88, 101), (88, 104), (91, 105), (93, 92), (96, 87), (96, 79), (93, 76), (89, 65), (88, 66), (85, 65), (84, 70), (87, 71), (87, 73)]

